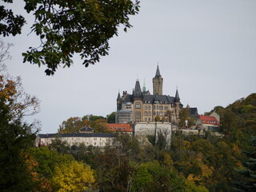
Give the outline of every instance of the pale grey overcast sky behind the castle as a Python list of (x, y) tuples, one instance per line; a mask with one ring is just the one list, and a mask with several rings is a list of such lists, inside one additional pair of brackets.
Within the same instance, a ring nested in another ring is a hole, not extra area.
[[(2, 2), (1, 2), (2, 3)], [(11, 5), (24, 14), (22, 2)], [(118, 90), (132, 92), (138, 78), (152, 93), (159, 64), (163, 94), (174, 96), (178, 86), (184, 106), (199, 114), (214, 106), (226, 107), (256, 92), (255, 0), (141, 0), (133, 28), (120, 28), (110, 40), (110, 54), (85, 68), (78, 57), (74, 66), (57, 70), (22, 62), (22, 52), (38, 46), (30, 34), (33, 20), (12, 42), (10, 74), (21, 76), (27, 93), (41, 100), (41, 133), (55, 133), (62, 121), (86, 114), (106, 116), (116, 110)]]

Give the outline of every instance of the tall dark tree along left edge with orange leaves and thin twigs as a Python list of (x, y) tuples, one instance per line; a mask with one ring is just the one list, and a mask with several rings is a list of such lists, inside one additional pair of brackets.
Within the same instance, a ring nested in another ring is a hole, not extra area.
[(20, 78), (10, 78), (1, 71), (1, 191), (32, 191), (34, 189), (33, 176), (26, 163), (26, 150), (33, 145), (38, 127), (36, 122), (25, 122), (24, 117), (38, 113), (38, 105), (38, 99), (30, 97), (22, 89)]

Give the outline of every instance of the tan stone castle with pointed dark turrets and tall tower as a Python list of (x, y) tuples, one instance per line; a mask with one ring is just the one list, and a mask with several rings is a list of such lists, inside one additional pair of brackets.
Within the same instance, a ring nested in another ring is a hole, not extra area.
[(162, 94), (163, 78), (159, 66), (153, 78), (153, 94), (141, 89), (137, 80), (132, 94), (123, 91), (122, 97), (118, 93), (116, 123), (154, 122), (156, 118), (162, 122), (178, 123), (179, 111), (182, 103), (176, 90), (175, 97)]

